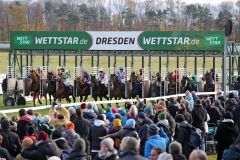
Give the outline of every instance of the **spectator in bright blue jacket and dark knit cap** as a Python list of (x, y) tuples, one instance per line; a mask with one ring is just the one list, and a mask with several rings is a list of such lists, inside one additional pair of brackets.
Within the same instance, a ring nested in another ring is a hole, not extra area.
[(150, 124), (148, 127), (149, 139), (145, 143), (144, 157), (150, 160), (151, 150), (153, 148), (160, 148), (166, 151), (168, 138), (160, 137), (159, 128), (155, 124)]

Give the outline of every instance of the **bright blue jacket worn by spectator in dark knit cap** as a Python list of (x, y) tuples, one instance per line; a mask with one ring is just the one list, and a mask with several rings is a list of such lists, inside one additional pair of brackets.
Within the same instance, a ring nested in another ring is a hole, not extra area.
[(145, 143), (144, 157), (151, 159), (151, 150), (153, 148), (161, 148), (166, 151), (168, 138), (160, 137), (159, 135), (154, 135), (149, 137), (148, 141)]

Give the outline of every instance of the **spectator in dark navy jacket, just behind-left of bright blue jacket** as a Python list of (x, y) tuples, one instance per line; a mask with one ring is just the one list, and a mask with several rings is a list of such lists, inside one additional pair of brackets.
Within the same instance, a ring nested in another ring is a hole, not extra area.
[(150, 124), (153, 124), (153, 121), (150, 120), (144, 112), (138, 113), (138, 120), (136, 128), (139, 134), (140, 142), (140, 154), (144, 154), (144, 145), (148, 138), (148, 127)]

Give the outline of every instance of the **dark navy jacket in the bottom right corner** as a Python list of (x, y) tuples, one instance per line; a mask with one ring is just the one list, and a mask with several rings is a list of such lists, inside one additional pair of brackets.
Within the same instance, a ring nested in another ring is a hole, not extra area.
[(239, 160), (240, 158), (240, 148), (235, 145), (230, 146), (223, 152), (223, 160)]

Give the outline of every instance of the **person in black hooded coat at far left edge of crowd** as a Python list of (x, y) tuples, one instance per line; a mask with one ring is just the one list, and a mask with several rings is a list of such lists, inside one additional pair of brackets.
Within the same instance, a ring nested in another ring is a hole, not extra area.
[(18, 135), (10, 131), (10, 122), (7, 119), (1, 121), (2, 147), (7, 149), (12, 157), (21, 152), (21, 142)]

